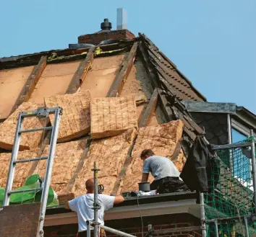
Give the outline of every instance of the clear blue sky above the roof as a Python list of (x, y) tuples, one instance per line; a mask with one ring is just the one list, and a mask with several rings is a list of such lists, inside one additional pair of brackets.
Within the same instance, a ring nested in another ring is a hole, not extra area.
[(1, 1), (0, 57), (67, 48), (79, 35), (116, 28), (143, 32), (209, 102), (235, 102), (256, 113), (255, 0)]

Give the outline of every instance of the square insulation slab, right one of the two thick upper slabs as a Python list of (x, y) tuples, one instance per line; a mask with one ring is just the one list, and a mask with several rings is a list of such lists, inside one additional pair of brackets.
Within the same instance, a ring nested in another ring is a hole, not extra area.
[(119, 135), (137, 128), (135, 97), (93, 98), (90, 102), (90, 134), (93, 139)]

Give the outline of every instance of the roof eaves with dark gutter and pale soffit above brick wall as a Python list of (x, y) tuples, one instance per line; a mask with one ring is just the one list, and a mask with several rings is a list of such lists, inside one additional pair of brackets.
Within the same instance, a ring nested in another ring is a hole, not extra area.
[[(121, 206), (116, 206), (105, 213), (105, 220), (120, 220), (142, 216), (189, 213), (200, 218), (200, 205), (196, 204), (195, 193), (167, 194), (158, 197), (137, 197), (125, 200)], [(140, 207), (140, 209), (139, 209)], [(77, 214), (64, 207), (51, 207), (46, 211), (44, 226), (67, 225), (77, 223)]]

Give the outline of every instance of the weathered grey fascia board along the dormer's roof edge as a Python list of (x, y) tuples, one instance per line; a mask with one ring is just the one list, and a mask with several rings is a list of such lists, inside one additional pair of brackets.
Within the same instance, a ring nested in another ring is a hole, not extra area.
[(234, 103), (215, 103), (215, 102), (182, 102), (189, 112), (218, 112), (218, 113), (236, 113), (236, 104)]

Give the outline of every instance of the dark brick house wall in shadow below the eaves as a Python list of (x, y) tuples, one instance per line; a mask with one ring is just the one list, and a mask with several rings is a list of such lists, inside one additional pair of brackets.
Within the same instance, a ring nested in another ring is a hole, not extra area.
[[(191, 226), (200, 226), (200, 220), (189, 214), (176, 214), (176, 215), (161, 215), (157, 217), (143, 217), (143, 236), (148, 233), (148, 225), (153, 225), (153, 228), (158, 230), (174, 230), (174, 228), (184, 228)], [(142, 224), (140, 218), (129, 218), (123, 220), (108, 220), (105, 225), (111, 228), (124, 231), (125, 233), (132, 234), (133, 236), (142, 237)], [(77, 233), (77, 225), (58, 225), (44, 228), (45, 237), (75, 237)], [(117, 237), (112, 233), (106, 233), (108, 237)], [(153, 236), (171, 236), (171, 237), (201, 237), (200, 231), (176, 231), (174, 233), (154, 233)]]

